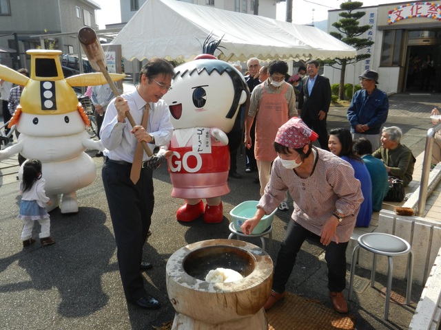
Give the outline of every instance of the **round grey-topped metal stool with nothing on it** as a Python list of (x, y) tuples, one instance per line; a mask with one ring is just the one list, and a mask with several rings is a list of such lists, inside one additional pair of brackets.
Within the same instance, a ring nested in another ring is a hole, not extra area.
[(384, 307), (384, 320), (388, 319), (389, 315), (389, 303), (391, 298), (391, 286), (392, 286), (392, 272), (393, 272), (393, 256), (402, 256), (409, 253), (409, 264), (407, 266), (407, 292), (406, 292), (406, 305), (411, 303), (411, 291), (412, 291), (412, 274), (413, 274), (413, 253), (411, 251), (411, 245), (404, 239), (391, 234), (370, 232), (358, 237), (358, 245), (353, 248), (352, 263), (351, 263), (351, 277), (349, 280), (349, 294), (348, 299), (352, 298), (353, 290), (353, 274), (356, 270), (356, 263), (358, 261), (358, 254), (360, 248), (373, 252), (372, 270), (371, 270), (371, 287), (375, 282), (375, 271), (377, 254), (387, 256), (389, 261), (389, 268), (387, 270), (387, 286), (386, 286), (386, 305)]

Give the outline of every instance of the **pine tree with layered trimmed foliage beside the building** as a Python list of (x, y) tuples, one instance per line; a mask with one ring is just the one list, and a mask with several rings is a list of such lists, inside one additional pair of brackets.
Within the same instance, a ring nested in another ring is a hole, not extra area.
[[(359, 1), (348, 1), (340, 4), (340, 9), (345, 10), (345, 12), (340, 12), (338, 16), (342, 18), (339, 21), (332, 23), (332, 26), (334, 26), (338, 32), (329, 32), (331, 36), (334, 36), (334, 38), (354, 47), (357, 51), (373, 45), (373, 41), (358, 38), (358, 36), (361, 36), (371, 28), (371, 25), (359, 26), (360, 22), (358, 20), (364, 17), (366, 12), (354, 12), (354, 10), (358, 10), (362, 5), (363, 3)], [(346, 66), (370, 57), (371, 54), (358, 54), (355, 58), (334, 58), (333, 60), (324, 61), (325, 65), (341, 70), (340, 88), (338, 89), (338, 98), (340, 98), (340, 100), (345, 99)]]

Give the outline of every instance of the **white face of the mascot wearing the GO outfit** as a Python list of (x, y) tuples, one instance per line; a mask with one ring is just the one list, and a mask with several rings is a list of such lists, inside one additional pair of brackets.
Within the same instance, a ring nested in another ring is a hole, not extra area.
[[(207, 61), (211, 67), (216, 63), (224, 67), (227, 64), (219, 60), (200, 59), (175, 69), (178, 74), (172, 82), (172, 90), (163, 97), (170, 107), (174, 129), (217, 127), (227, 133), (232, 130), (237, 111), (232, 118), (226, 117), (234, 102), (232, 78), (222, 69), (214, 69), (211, 74), (206, 69), (196, 69), (196, 62), (201, 67)], [(240, 103), (245, 100), (246, 94)]]

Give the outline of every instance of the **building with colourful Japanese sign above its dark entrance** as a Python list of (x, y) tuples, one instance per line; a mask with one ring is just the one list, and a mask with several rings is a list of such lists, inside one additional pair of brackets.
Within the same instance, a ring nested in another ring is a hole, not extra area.
[[(404, 91), (441, 91), (441, 1), (386, 3), (362, 7), (366, 12), (360, 25), (371, 28), (360, 38), (375, 43), (360, 52), (371, 58), (348, 65), (345, 83), (358, 84), (365, 69), (380, 75), (378, 87), (387, 93)], [(329, 10), (328, 30), (336, 31), (331, 23), (338, 21), (342, 10)], [(429, 78), (424, 62), (433, 61)], [(325, 68), (331, 83), (338, 83), (340, 70)]]

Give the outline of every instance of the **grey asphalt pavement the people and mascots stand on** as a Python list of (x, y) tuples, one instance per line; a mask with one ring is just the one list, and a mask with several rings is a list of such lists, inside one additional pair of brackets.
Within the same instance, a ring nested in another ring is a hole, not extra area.
[[(425, 135), (430, 127), (430, 109), (433, 105), (441, 106), (440, 95), (399, 94), (390, 100), (388, 124), (402, 127), (404, 144), (418, 155), (424, 149)], [(347, 126), (345, 113), (345, 108), (331, 108), (329, 128)], [(90, 155), (94, 155), (94, 151), (90, 151)], [(181, 200), (170, 197), (167, 169), (158, 168), (154, 173), (153, 234), (145, 245), (145, 259), (154, 263), (154, 269), (145, 273), (145, 285), (163, 307), (158, 311), (144, 311), (125, 302), (101, 181), (102, 159), (94, 158), (94, 161), (96, 180), (79, 190), (78, 214), (51, 212), (52, 236), (57, 243), (44, 248), (36, 243), (26, 249), (21, 246), (21, 222), (16, 218), (19, 210), (19, 184), (15, 179), (17, 161), (8, 159), (0, 163), (0, 329), (138, 330), (152, 329), (152, 326), (172, 320), (174, 309), (167, 299), (165, 286), (165, 265), (169, 256), (189, 243), (227, 238), (231, 221), (229, 210), (244, 200), (259, 197), (258, 185), (253, 184), (257, 175), (244, 173), (245, 159), (241, 155), (238, 165), (244, 177), (229, 181), (232, 192), (223, 198), (224, 221), (206, 225), (196, 220), (183, 225), (175, 219)], [(274, 260), (288, 221), (289, 212), (276, 212), (271, 252)], [(257, 240), (252, 243), (260, 245)], [(318, 298), (331, 307), (326, 272), (322, 247), (314, 242), (305, 243), (287, 289), (307, 298)], [(369, 272), (358, 270), (357, 274), (369, 278)], [(379, 294), (385, 283), (384, 276), (377, 276), (377, 281), (376, 288), (366, 289), (350, 303), (357, 329), (407, 329), (416, 303), (410, 307), (391, 304), (390, 320), (384, 321), (384, 299)], [(404, 287), (405, 283), (393, 282), (393, 290), (399, 293), (405, 292)], [(418, 302), (420, 293), (421, 287), (415, 286), (413, 302)]]

